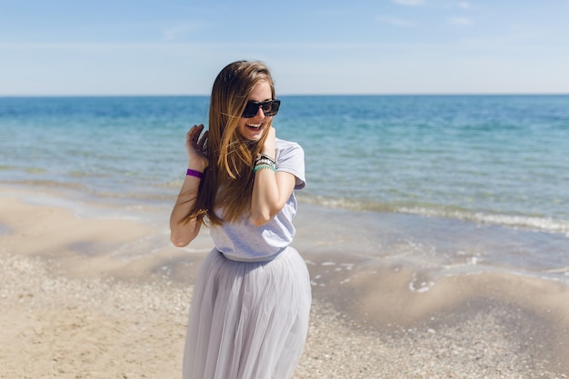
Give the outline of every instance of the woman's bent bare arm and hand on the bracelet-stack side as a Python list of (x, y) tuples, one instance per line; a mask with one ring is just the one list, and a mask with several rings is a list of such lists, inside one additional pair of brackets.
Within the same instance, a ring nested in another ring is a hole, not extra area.
[[(263, 154), (275, 159), (275, 128), (271, 127), (263, 146)], [(294, 191), (296, 177), (290, 173), (273, 170), (257, 170), (251, 200), (251, 222), (261, 226), (269, 222), (283, 209)]]

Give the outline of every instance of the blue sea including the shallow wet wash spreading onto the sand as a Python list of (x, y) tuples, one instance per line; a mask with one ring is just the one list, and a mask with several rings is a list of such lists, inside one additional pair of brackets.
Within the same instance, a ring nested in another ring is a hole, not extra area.
[[(305, 155), (301, 252), (404, 262), (433, 280), (507, 271), (569, 284), (569, 95), (280, 99), (277, 137)], [(208, 104), (0, 97), (0, 186), (79, 216), (152, 218), (163, 231), (155, 250), (169, 243), (185, 133), (207, 125)]]

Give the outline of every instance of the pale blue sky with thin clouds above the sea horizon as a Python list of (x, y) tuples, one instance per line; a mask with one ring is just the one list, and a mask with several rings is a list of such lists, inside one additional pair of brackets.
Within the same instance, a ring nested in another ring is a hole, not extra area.
[(569, 94), (569, 1), (0, 0), (0, 95)]

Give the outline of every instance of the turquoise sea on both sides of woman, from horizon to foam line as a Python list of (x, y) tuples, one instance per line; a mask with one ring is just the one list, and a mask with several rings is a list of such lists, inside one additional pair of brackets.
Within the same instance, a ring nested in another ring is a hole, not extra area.
[[(169, 199), (206, 97), (0, 99), (3, 182)], [(569, 229), (569, 96), (284, 96), (306, 200)]]

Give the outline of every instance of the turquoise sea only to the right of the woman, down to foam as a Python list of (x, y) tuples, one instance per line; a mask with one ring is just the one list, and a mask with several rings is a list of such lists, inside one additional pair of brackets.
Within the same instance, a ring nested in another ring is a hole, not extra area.
[(283, 117), (284, 129), (298, 125), (289, 135), (308, 150), (311, 194), (330, 203), (567, 231), (569, 96), (290, 103), (302, 113)]

